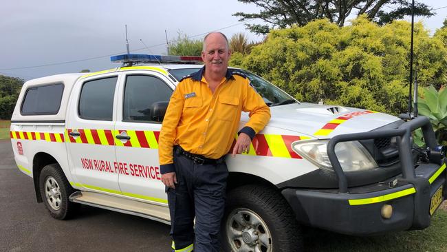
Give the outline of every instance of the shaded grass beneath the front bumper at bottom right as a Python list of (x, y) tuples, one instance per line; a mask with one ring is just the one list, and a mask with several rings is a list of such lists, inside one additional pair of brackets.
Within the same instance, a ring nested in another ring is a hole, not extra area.
[(446, 237), (447, 211), (438, 209), (431, 219), (430, 227), (424, 230), (402, 231), (373, 237), (353, 237), (309, 229), (305, 234), (305, 251), (446, 252)]

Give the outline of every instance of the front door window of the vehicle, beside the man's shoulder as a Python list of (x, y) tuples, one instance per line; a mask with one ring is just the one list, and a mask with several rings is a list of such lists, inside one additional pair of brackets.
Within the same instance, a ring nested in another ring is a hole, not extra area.
[(124, 120), (152, 121), (151, 106), (169, 101), (171, 88), (160, 78), (147, 75), (130, 75), (124, 88)]

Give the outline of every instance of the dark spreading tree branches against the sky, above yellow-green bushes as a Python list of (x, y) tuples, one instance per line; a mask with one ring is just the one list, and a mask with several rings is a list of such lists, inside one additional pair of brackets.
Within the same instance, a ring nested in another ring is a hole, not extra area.
[[(357, 17), (366, 14), (380, 24), (390, 23), (411, 14), (411, 0), (238, 0), (252, 3), (260, 8), (259, 13), (237, 12), (239, 21), (261, 19), (267, 25), (246, 24), (252, 31), (267, 34), (271, 28), (302, 26), (316, 19), (329, 19), (339, 26), (345, 25), (350, 14)], [(385, 8), (388, 7), (388, 8)], [(424, 3), (415, 3), (415, 15), (430, 17), (435, 12)]]

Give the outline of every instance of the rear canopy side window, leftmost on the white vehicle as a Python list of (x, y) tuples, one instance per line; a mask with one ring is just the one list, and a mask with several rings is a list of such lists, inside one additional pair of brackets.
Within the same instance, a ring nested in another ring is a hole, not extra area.
[(31, 87), (23, 99), (22, 115), (57, 114), (61, 107), (62, 83)]

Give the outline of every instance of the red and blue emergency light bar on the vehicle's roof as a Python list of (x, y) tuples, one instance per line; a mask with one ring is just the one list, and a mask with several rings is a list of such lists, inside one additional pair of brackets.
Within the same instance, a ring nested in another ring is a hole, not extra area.
[(113, 63), (201, 63), (200, 56), (171, 56), (171, 55), (151, 55), (151, 54), (122, 54), (111, 56), (110, 61)]

